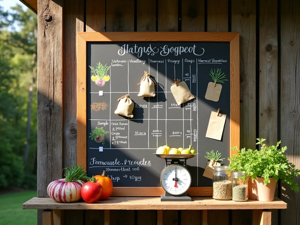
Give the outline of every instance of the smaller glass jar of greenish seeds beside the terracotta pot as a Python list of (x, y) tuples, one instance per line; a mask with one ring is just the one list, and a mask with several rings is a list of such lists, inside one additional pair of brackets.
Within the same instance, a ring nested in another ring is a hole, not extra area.
[(248, 180), (245, 171), (232, 172), (232, 200), (245, 202), (248, 200)]

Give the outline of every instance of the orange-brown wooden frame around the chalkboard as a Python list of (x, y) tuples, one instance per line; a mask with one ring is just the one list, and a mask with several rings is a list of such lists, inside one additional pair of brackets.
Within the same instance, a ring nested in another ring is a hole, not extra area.
[[(238, 32), (79, 32), (77, 37), (77, 164), (86, 170), (86, 46), (101, 41), (230, 42), (230, 146), (240, 144)], [(236, 151), (230, 149), (230, 156)], [(112, 196), (160, 196), (162, 187), (114, 187)], [(211, 196), (212, 187), (190, 187), (190, 196)]]

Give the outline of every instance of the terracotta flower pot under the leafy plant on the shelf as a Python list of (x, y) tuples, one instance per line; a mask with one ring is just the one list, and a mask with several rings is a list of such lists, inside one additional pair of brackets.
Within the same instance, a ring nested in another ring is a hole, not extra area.
[(274, 200), (276, 181), (270, 178), (270, 183), (264, 184), (264, 178), (256, 177), (255, 180), (248, 178), (249, 199), (257, 199), (262, 202), (271, 202)]

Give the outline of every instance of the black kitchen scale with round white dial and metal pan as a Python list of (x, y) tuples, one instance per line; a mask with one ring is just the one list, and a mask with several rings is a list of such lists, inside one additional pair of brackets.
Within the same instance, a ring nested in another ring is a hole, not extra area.
[(197, 154), (154, 154), (158, 158), (165, 159), (165, 168), (161, 171), (160, 183), (165, 193), (161, 195), (161, 201), (191, 201), (187, 195), (192, 178), (187, 170), (187, 159)]

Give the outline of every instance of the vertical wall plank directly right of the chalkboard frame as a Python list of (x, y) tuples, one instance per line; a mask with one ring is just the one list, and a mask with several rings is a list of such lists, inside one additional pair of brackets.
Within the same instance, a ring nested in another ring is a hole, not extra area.
[(255, 149), (256, 1), (232, 0), (231, 5), (232, 32), (240, 33), (240, 146)]

